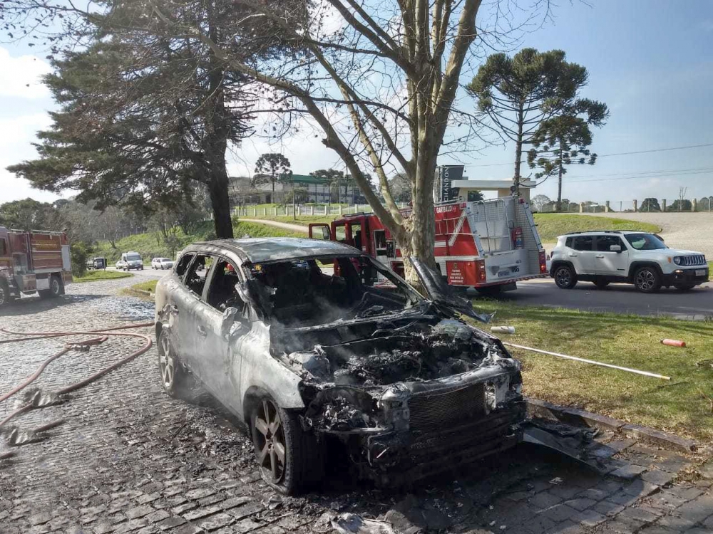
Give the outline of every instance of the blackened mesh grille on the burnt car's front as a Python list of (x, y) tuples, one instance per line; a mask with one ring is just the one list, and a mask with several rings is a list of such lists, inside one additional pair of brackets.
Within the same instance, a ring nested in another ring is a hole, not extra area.
[(485, 384), (414, 394), (409, 399), (409, 426), (428, 432), (459, 426), (485, 413)]

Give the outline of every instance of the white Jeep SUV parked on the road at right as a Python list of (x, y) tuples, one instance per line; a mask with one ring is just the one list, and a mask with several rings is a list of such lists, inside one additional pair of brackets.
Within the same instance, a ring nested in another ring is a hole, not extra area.
[(594, 282), (597, 288), (622, 282), (655, 293), (661, 286), (687, 290), (707, 282), (708, 264), (702, 253), (668, 248), (656, 234), (572, 232), (558, 237), (550, 276), (562, 289), (571, 289), (578, 281)]

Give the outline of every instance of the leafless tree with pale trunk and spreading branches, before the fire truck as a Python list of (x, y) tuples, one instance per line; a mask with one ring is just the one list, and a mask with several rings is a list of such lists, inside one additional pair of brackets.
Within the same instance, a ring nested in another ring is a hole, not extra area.
[[(531, 21), (547, 16), (550, 5), (534, 0), (527, 11), (513, 11), (500, 1), (483, 9), (481, 0), (232, 0), (236, 14), (226, 16), (216, 36), (182, 16), (178, 4), (130, 2), (137, 14), (133, 25), (200, 42), (224, 72), (245, 75), (263, 90), (261, 108), (290, 125), (304, 117), (294, 126), (311, 130), (339, 155), (403, 255), (431, 266), (436, 157), (444, 145), (463, 149), (479, 125), (478, 117), (453, 108), (463, 65), (473, 57), (476, 39), (479, 45), (492, 38), (486, 44), (494, 46), (512, 29), (504, 27), (504, 12), (524, 13)], [(1, 9), (20, 14), (18, 21), (88, 16), (73, 5), (6, 0)], [(259, 43), (265, 42), (279, 44), (279, 56), (245, 56), (246, 47), (262, 50)], [(460, 127), (447, 132), (448, 125)], [(373, 169), (384, 204), (360, 164)], [(389, 188), (387, 176), (398, 171), (411, 185), (409, 216), (401, 214)], [(406, 268), (413, 280), (408, 262)]]

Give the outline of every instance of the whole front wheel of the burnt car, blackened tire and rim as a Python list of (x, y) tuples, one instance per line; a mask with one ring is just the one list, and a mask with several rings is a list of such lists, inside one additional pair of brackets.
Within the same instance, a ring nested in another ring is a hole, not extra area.
[(294, 495), (322, 478), (317, 436), (302, 429), (297, 412), (279, 407), (269, 394), (260, 395), (250, 410), (250, 434), (262, 479), (275, 490)]

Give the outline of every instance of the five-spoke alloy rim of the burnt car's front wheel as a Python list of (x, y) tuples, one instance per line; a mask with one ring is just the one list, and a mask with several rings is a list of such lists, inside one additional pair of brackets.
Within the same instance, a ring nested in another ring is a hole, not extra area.
[(279, 411), (270, 399), (262, 399), (255, 410), (252, 424), (252, 441), (255, 444), (257, 464), (267, 480), (282, 482), (285, 467), (285, 440)]

